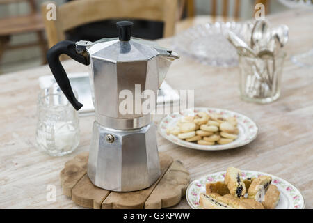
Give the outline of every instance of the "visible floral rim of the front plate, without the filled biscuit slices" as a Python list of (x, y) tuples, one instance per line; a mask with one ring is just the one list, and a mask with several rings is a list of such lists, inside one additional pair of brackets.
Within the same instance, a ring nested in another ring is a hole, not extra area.
[[(193, 209), (200, 209), (199, 194), (205, 193), (205, 184), (209, 182), (224, 181), (226, 172), (221, 171), (209, 174), (198, 180), (194, 180), (186, 190), (186, 199)], [(286, 180), (258, 171), (241, 171), (243, 178), (258, 177), (267, 175), (272, 177), (272, 184), (280, 190), (280, 201), (276, 209), (302, 209), (305, 208), (305, 199), (297, 187), (291, 185)]]

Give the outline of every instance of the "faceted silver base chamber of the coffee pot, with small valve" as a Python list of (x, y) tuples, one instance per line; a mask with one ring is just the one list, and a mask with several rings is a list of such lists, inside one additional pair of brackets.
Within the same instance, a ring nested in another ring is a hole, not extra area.
[[(126, 192), (150, 187), (160, 176), (156, 128), (119, 131), (93, 125), (88, 176), (94, 185)], [(106, 136), (113, 135), (108, 142)]]

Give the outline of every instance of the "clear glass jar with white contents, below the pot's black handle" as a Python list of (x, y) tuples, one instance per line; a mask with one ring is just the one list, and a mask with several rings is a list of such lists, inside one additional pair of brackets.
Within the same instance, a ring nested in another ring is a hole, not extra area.
[(72, 153), (79, 145), (78, 112), (54, 84), (38, 96), (36, 144), (52, 156)]

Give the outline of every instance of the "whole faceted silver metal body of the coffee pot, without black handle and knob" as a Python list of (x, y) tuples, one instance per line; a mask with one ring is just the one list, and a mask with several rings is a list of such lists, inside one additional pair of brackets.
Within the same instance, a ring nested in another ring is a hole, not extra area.
[[(88, 176), (106, 190), (134, 191), (150, 187), (160, 176), (156, 129), (143, 114), (143, 92), (154, 93), (179, 56), (156, 43), (131, 38), (79, 41), (77, 52), (90, 56), (90, 84), (96, 121), (90, 145)], [(120, 95), (125, 93), (125, 95)], [(127, 94), (126, 94), (127, 93)], [(129, 96), (132, 111), (120, 105)]]

